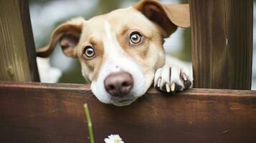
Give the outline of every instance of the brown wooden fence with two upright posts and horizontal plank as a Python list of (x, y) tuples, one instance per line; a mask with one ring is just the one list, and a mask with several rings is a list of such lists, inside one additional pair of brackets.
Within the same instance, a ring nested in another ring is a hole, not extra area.
[[(0, 0), (0, 142), (255, 142), (252, 0), (190, 0), (195, 87), (150, 89), (128, 107), (102, 104), (88, 85), (40, 84), (26, 0)], [(18, 81), (18, 82), (4, 82)], [(29, 82), (29, 83), (28, 83)]]

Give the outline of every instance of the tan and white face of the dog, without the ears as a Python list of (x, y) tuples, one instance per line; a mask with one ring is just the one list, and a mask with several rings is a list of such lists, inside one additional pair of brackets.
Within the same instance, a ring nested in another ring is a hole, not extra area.
[[(95, 96), (104, 103), (125, 105), (143, 95), (156, 68), (164, 64), (158, 27), (132, 7), (97, 16), (84, 25), (78, 57)], [(89, 49), (94, 55), (87, 60)], [(119, 87), (115, 82), (126, 85)]]

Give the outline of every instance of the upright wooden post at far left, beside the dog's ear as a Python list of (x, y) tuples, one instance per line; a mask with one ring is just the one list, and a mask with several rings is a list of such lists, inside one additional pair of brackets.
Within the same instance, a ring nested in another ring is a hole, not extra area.
[(0, 0), (0, 80), (39, 82), (27, 0)]

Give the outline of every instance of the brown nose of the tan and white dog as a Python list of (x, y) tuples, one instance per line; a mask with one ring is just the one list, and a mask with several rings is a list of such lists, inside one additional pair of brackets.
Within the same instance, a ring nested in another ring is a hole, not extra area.
[(133, 88), (133, 77), (125, 71), (109, 74), (104, 81), (105, 90), (114, 97), (123, 97)]

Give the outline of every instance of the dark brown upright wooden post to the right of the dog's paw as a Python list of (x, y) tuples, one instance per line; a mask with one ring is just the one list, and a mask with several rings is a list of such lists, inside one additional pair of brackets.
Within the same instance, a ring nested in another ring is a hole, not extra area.
[(250, 89), (252, 0), (190, 0), (194, 87)]

